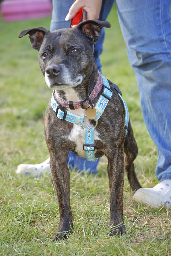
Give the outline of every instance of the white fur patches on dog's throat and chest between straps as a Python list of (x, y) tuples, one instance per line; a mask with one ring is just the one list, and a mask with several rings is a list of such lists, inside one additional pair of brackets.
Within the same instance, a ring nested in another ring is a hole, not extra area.
[[(78, 95), (75, 93), (74, 89), (69, 89), (67, 92), (65, 92), (65, 97), (67, 98), (67, 101), (71, 100), (81, 101), (83, 99), (80, 99)], [(67, 109), (69, 112), (78, 115), (78, 116), (85, 116), (86, 111), (85, 109), (79, 108), (79, 109)], [(84, 126), (92, 126), (89, 119), (85, 117)], [(83, 150), (83, 144), (85, 143), (85, 130), (82, 126), (73, 124), (73, 128), (71, 129), (70, 133), (68, 134), (68, 139), (76, 145), (75, 151), (79, 156), (86, 157), (86, 153)], [(99, 133), (96, 129), (94, 129), (94, 140), (100, 140)]]

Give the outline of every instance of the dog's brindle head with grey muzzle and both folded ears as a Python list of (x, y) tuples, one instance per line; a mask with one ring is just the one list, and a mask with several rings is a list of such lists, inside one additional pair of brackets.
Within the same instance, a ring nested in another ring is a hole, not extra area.
[(85, 20), (74, 28), (53, 32), (45, 28), (21, 31), (19, 38), (29, 34), (32, 47), (39, 51), (39, 64), (49, 88), (65, 90), (76, 87), (91, 75), (93, 45), (107, 21)]

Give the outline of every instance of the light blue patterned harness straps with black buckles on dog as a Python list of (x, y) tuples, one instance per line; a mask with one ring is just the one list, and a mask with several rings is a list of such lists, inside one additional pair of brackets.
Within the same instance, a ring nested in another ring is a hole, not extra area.
[[(124, 108), (125, 108), (125, 127), (126, 127), (126, 135), (128, 132), (128, 123), (129, 123), (129, 112), (128, 112), (128, 107), (125, 102), (125, 100), (122, 97), (122, 94), (115, 84), (113, 84), (114, 89), (118, 92), (119, 97), (121, 98)], [(103, 114), (109, 100), (111, 100), (113, 95), (113, 91), (110, 89), (110, 85), (108, 80), (103, 76), (103, 91), (102, 94), (100, 95), (97, 104), (95, 106), (95, 109), (97, 111), (96, 117), (93, 119), (94, 121), (98, 121), (98, 119), (101, 117)], [(84, 120), (85, 116), (78, 116), (75, 115), (69, 111), (66, 111), (63, 109), (54, 99), (54, 91), (52, 93), (52, 98), (51, 98), (51, 106), (53, 110), (56, 112), (56, 116), (61, 120), (61, 121), (68, 121), (73, 124), (81, 125), (84, 128), (85, 131), (85, 143), (83, 144), (83, 150), (86, 151), (86, 158), (88, 161), (97, 161), (97, 158), (95, 157), (95, 144), (94, 144), (94, 126), (90, 127), (84, 127)]]

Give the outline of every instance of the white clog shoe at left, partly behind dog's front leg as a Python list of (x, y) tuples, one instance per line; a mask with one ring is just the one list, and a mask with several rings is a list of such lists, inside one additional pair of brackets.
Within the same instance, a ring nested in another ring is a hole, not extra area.
[(46, 172), (50, 172), (50, 157), (40, 164), (20, 164), (17, 167), (17, 174), (32, 176), (32, 177), (40, 177)]

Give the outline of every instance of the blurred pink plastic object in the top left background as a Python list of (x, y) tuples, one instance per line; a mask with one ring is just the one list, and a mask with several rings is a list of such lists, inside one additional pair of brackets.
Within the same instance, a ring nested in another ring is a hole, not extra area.
[(4, 0), (1, 3), (1, 14), (4, 21), (38, 19), (50, 16), (50, 0)]

